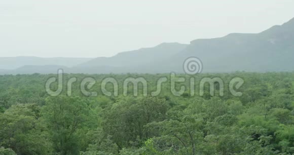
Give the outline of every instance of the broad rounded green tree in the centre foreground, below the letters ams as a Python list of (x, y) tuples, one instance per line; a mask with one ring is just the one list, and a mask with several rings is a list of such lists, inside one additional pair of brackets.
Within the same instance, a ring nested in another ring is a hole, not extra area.
[(120, 149), (140, 146), (152, 136), (150, 129), (145, 125), (164, 120), (167, 109), (165, 99), (122, 99), (105, 109), (103, 130), (106, 134), (112, 135), (112, 140)]

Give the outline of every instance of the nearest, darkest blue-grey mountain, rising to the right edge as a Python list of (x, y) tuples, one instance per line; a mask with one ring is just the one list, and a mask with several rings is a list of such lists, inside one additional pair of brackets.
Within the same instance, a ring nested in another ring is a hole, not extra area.
[(203, 71), (292, 71), (294, 58), (294, 18), (256, 34), (231, 33), (227, 36), (192, 41), (172, 60), (176, 65), (189, 56), (203, 62)]

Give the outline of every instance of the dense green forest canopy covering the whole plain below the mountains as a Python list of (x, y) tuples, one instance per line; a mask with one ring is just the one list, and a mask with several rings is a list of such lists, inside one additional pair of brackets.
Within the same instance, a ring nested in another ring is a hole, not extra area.
[[(155, 97), (144, 97), (141, 90), (137, 97), (124, 96), (121, 89), (108, 97), (100, 91), (101, 81), (113, 77), (122, 86), (128, 77), (144, 77), (152, 92), (168, 74), (65, 74), (64, 81), (78, 79), (71, 96), (66, 83), (61, 95), (47, 94), (52, 76), (0, 76), (0, 154), (294, 153), (293, 72), (197, 74), (194, 96), (189, 89), (172, 95), (167, 82)], [(97, 81), (91, 90), (98, 96), (81, 93), (81, 81), (89, 76)], [(223, 79), (224, 96), (211, 96), (208, 86), (200, 96), (198, 84), (205, 77)], [(240, 97), (228, 88), (235, 77), (245, 82)], [(177, 88), (189, 88), (188, 81)]]

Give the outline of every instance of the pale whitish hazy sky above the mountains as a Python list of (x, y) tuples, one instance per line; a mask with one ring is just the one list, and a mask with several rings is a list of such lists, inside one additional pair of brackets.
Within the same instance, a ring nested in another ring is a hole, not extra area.
[(0, 57), (99, 57), (256, 33), (294, 17), (294, 1), (0, 0)]

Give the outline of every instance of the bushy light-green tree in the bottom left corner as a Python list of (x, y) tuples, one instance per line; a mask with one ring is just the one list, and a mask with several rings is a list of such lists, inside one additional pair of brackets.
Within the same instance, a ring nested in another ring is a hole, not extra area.
[(49, 154), (52, 143), (40, 118), (40, 107), (17, 104), (0, 113), (0, 145), (17, 154)]

